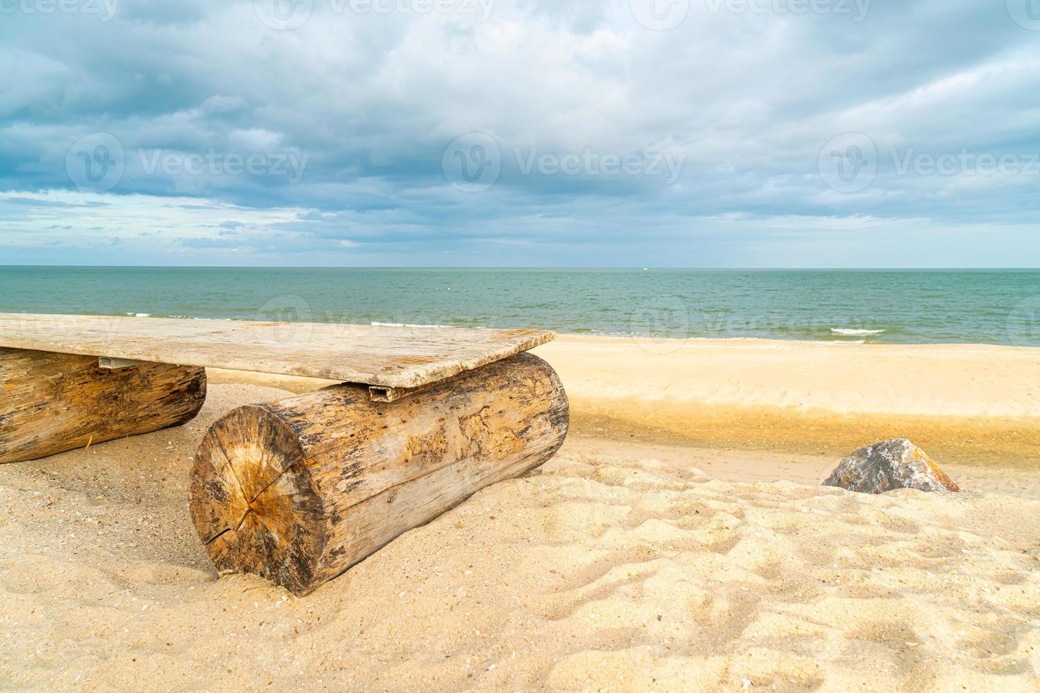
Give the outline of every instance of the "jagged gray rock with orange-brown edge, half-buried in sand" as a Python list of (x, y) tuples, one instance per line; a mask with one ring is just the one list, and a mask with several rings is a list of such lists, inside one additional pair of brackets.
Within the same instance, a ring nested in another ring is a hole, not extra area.
[(924, 450), (906, 438), (860, 448), (841, 460), (824, 485), (860, 494), (884, 494), (896, 488), (940, 494), (961, 490)]

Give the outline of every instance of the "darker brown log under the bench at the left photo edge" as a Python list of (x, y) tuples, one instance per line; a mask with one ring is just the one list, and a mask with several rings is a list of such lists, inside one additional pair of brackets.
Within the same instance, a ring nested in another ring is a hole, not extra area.
[(0, 462), (22, 462), (187, 423), (206, 370), (109, 370), (97, 356), (0, 348)]

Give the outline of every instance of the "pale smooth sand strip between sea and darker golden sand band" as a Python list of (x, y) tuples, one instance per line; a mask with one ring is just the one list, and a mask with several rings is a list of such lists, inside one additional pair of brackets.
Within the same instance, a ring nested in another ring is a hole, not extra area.
[(835, 414), (1040, 417), (1040, 349), (563, 336), (539, 347), (571, 390)]

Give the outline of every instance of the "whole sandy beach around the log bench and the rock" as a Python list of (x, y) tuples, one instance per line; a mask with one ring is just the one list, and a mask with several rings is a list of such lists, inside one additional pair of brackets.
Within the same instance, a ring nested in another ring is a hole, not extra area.
[[(675, 346), (539, 349), (561, 454), (302, 598), (217, 579), (187, 471), (318, 382), (213, 372), (187, 426), (0, 467), (0, 688), (1040, 689), (1040, 352)], [(966, 492), (818, 485), (893, 435)]]

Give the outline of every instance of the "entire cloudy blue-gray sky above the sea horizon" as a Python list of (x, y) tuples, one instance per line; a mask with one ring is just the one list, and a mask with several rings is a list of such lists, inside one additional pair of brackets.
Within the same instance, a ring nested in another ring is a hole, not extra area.
[(1040, 266), (1040, 0), (0, 0), (0, 264)]

